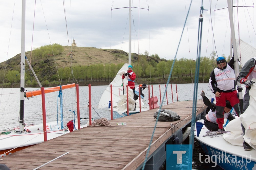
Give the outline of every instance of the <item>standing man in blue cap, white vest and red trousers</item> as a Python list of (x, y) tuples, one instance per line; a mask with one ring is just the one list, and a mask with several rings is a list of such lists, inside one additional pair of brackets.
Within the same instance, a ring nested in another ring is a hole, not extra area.
[(209, 87), (216, 97), (216, 117), (219, 129), (217, 134), (223, 133), (224, 108), (228, 100), (234, 110), (239, 111), (239, 99), (236, 90), (236, 76), (234, 72), (234, 57), (227, 63), (224, 57), (217, 58), (218, 67), (212, 70), (209, 79)]

